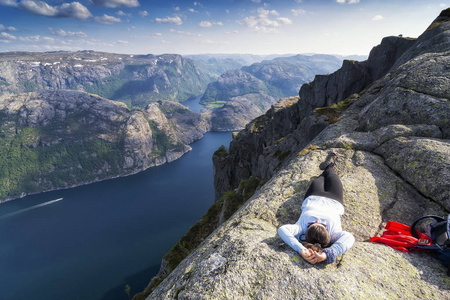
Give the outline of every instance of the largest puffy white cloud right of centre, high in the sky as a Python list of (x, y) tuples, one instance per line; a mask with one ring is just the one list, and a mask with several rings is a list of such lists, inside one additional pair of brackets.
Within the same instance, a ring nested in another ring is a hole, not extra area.
[(264, 8), (258, 8), (257, 16), (246, 17), (239, 24), (249, 27), (255, 32), (277, 32), (278, 28), (282, 25), (292, 24), (292, 21), (288, 18), (279, 17), (276, 20), (271, 19), (271, 16), (279, 16), (280, 14), (276, 10), (266, 10)]

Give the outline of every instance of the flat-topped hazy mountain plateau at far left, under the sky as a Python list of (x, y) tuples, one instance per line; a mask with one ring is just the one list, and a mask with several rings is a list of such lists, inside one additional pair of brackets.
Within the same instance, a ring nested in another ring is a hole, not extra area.
[(0, 94), (71, 89), (129, 107), (182, 102), (203, 94), (217, 76), (180, 55), (123, 55), (94, 51), (0, 53)]

